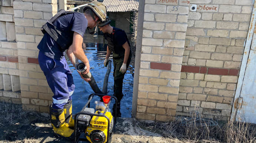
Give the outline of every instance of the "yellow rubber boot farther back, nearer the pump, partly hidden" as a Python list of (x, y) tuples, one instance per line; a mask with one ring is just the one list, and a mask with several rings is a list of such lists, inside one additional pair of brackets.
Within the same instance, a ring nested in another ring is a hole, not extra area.
[(68, 103), (64, 105), (64, 114), (66, 126), (74, 128), (75, 120), (72, 118), (72, 100), (68, 101)]

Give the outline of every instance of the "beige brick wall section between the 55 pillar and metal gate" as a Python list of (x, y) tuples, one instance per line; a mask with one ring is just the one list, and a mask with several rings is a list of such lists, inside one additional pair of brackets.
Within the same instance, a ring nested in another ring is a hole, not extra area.
[(193, 0), (177, 115), (227, 120), (232, 109), (253, 0)]

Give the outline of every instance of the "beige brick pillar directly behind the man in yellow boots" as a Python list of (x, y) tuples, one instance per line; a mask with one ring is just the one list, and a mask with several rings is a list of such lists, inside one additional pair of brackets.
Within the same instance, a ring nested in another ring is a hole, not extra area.
[(43, 35), (40, 28), (58, 10), (57, 0), (15, 0), (13, 6), (22, 107), (49, 112), (53, 93), (39, 67), (37, 45)]

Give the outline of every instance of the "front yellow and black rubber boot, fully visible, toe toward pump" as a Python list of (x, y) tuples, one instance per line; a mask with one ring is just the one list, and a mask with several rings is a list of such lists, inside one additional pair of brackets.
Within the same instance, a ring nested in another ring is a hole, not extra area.
[(63, 137), (70, 137), (74, 130), (66, 126), (64, 109), (53, 109), (50, 106), (50, 120), (53, 132)]

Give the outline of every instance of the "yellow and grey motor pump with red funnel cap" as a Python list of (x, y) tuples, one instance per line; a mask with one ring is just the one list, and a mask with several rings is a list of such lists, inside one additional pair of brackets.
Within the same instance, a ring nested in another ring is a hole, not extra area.
[[(114, 96), (108, 96), (108, 102), (95, 101), (95, 109), (89, 108), (92, 97), (83, 107), (81, 112), (75, 115), (75, 143), (108, 143), (109, 136), (112, 133), (115, 119), (109, 110), (111, 99)], [(99, 94), (97, 94), (99, 96)], [(104, 97), (104, 96), (102, 96)], [(106, 96), (105, 96), (106, 97)], [(88, 107), (86, 107), (88, 105)], [(115, 116), (116, 117), (116, 116)], [(80, 142), (81, 141), (81, 142)]]

